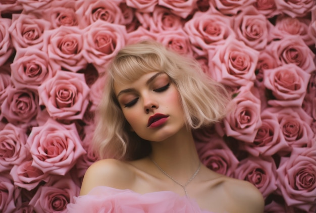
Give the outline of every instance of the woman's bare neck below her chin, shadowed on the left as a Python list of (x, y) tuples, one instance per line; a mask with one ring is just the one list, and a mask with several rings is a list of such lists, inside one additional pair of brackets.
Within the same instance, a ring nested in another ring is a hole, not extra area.
[(181, 184), (185, 184), (199, 166), (191, 131), (183, 128), (165, 141), (151, 142), (150, 158)]

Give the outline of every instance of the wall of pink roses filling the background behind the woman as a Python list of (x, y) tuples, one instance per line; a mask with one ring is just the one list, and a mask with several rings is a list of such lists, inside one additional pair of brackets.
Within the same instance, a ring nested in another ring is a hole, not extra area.
[(194, 57), (236, 108), (194, 132), (208, 168), (254, 184), (266, 212), (316, 210), (313, 0), (1, 0), (0, 212), (66, 212), (104, 73), (154, 39)]

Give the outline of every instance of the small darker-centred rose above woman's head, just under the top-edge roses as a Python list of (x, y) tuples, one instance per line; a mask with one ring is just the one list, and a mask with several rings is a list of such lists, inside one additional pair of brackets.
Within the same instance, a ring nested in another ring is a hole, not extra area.
[(162, 32), (182, 29), (183, 21), (167, 8), (155, 7), (147, 22), (151, 32)]

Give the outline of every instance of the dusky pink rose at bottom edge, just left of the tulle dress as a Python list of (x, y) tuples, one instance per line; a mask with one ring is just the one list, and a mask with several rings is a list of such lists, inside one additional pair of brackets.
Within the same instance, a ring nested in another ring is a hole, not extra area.
[(78, 196), (80, 188), (69, 177), (40, 186), (30, 205), (34, 206), (36, 212), (68, 212), (66, 206), (74, 202), (74, 196)]

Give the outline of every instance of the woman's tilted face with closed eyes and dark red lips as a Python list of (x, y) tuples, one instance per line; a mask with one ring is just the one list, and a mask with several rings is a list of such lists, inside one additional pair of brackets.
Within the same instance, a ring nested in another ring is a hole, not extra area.
[(163, 141), (185, 128), (180, 96), (163, 72), (150, 72), (134, 82), (114, 83), (123, 114), (135, 133), (148, 141)]

